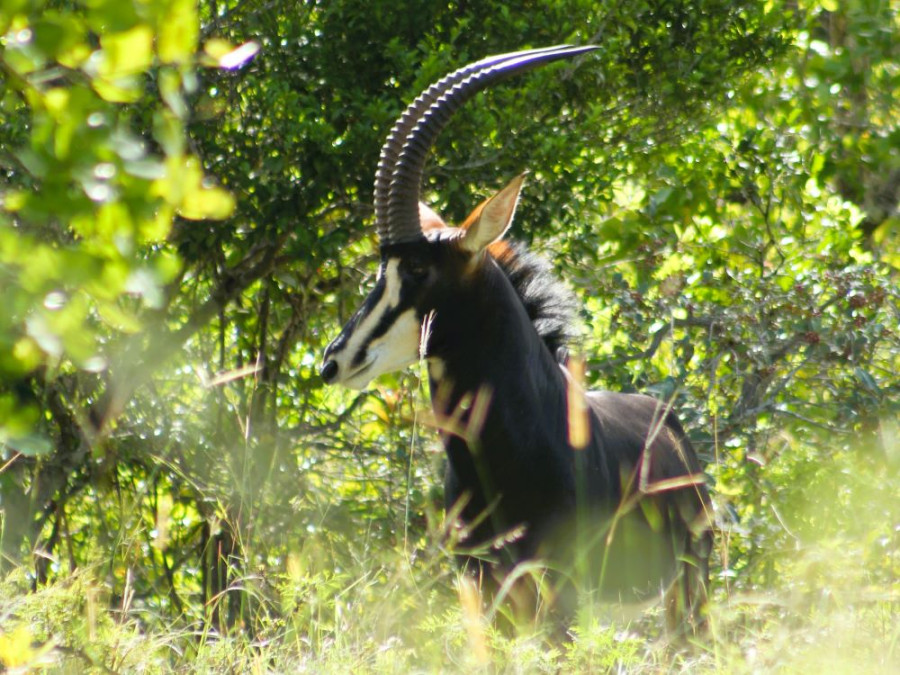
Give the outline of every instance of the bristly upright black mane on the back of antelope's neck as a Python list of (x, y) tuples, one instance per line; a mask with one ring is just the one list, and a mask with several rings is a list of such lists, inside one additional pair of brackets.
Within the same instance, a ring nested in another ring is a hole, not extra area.
[(556, 357), (575, 337), (575, 295), (556, 277), (550, 263), (524, 244), (504, 241), (489, 250), (522, 299), (538, 335)]

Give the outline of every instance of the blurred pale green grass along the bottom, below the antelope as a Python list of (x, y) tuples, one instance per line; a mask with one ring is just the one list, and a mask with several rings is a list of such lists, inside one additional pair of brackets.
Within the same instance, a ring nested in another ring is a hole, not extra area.
[[(568, 638), (549, 623), (501, 633), (438, 533), (409, 551), (320, 532), (232, 585), (258, 608), (254, 631), (217, 630), (213, 607), (206, 620), (155, 614), (127, 585), (113, 597), (101, 563), (38, 588), (15, 570), (0, 581), (0, 664), (10, 673), (900, 672), (896, 468), (858, 454), (818, 467), (804, 457), (782, 454), (755, 508), (721, 519), (710, 632), (689, 646), (668, 644), (658, 608), (627, 622), (595, 609)], [(751, 546), (761, 553), (749, 556)]]

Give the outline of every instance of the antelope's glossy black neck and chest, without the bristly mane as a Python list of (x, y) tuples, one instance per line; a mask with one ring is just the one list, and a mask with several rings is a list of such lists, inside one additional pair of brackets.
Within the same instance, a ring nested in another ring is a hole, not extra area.
[(521, 526), (517, 555), (530, 556), (575, 506), (564, 377), (511, 286), (469, 300), (433, 322), (429, 374), (448, 460), (445, 499), (480, 523), (466, 545)]

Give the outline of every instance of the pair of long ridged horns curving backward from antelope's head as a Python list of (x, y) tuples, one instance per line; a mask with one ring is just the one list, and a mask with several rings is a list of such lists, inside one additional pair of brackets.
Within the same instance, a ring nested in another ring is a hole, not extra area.
[(559, 45), (489, 56), (453, 71), (422, 92), (396, 121), (381, 148), (375, 173), (375, 228), (381, 245), (423, 237), (419, 190), (425, 158), (453, 113), (491, 84), (593, 49), (597, 47)]

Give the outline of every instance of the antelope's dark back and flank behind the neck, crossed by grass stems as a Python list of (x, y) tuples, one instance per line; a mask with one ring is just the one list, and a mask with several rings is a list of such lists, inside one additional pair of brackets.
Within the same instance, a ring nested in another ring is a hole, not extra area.
[[(595, 499), (598, 536), (592, 537), (593, 580), (601, 595), (633, 601), (653, 597), (682, 576), (682, 561), (691, 561), (697, 587), (708, 581), (712, 550), (711, 510), (699, 458), (676, 418), (650, 396), (608, 391), (588, 392), (597, 418), (589, 451), (605, 463), (618, 494)], [(574, 545), (572, 532), (563, 535)], [(555, 538), (555, 544), (562, 541)], [(565, 545), (565, 544), (563, 544)], [(593, 581), (591, 582), (593, 584)]]

